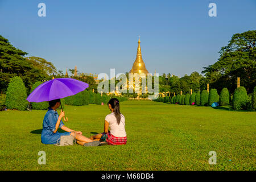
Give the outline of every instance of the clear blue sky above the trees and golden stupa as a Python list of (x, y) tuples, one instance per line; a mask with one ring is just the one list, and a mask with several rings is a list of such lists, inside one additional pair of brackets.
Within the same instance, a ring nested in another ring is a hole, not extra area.
[[(211, 2), (217, 17), (208, 15)], [(15, 47), (64, 72), (128, 72), (140, 35), (148, 71), (181, 77), (215, 63), (233, 34), (256, 30), (256, 1), (0, 0), (0, 22)]]

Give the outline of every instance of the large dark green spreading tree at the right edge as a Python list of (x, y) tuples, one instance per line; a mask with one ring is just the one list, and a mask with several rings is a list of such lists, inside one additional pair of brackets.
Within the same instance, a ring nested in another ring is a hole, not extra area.
[(237, 77), (248, 92), (253, 92), (256, 84), (256, 30), (234, 34), (228, 46), (220, 50), (220, 58), (213, 65), (204, 67), (203, 73), (213, 78), (210, 84), (217, 88), (234, 90)]

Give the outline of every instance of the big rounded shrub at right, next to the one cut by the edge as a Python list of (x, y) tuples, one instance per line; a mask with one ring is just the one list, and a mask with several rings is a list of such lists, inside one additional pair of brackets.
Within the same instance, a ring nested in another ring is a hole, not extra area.
[(233, 96), (233, 108), (236, 110), (246, 109), (246, 103), (248, 102), (248, 96), (246, 89), (243, 86), (236, 88)]

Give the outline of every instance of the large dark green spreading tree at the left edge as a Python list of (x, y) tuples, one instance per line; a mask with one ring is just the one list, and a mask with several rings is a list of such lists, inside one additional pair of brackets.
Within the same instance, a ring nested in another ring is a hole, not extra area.
[(27, 93), (36, 81), (42, 81), (46, 75), (35, 68), (23, 56), (26, 52), (15, 48), (8, 39), (0, 35), (0, 90), (5, 92), (11, 78), (19, 76), (27, 88)]

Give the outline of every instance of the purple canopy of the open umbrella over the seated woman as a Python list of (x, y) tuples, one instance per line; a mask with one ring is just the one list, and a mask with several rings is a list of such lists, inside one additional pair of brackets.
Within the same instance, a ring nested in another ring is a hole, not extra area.
[(85, 82), (73, 78), (55, 78), (39, 85), (27, 97), (28, 102), (52, 101), (73, 96), (88, 88)]

